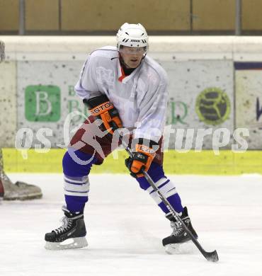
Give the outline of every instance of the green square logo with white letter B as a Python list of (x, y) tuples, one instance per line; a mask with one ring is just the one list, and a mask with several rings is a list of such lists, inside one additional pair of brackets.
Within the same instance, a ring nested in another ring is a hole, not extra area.
[(25, 118), (30, 122), (57, 122), (61, 116), (60, 94), (58, 86), (27, 86)]

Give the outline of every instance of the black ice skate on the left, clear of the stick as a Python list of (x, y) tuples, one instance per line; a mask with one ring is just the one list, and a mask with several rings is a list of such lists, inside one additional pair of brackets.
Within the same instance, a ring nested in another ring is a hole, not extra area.
[(62, 207), (62, 210), (64, 211), (62, 226), (45, 234), (45, 248), (60, 250), (87, 246), (83, 212), (74, 214), (66, 207)]

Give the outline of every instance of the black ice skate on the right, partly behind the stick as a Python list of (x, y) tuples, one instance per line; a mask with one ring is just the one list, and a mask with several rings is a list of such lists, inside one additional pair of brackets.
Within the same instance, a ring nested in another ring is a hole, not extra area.
[[(163, 246), (166, 247), (167, 253), (174, 253), (172, 251), (179, 251), (179, 246), (182, 243), (190, 241), (190, 236), (188, 236), (186, 231), (183, 229), (183, 226), (180, 225), (179, 222), (177, 222), (171, 214), (166, 216), (166, 218), (171, 221), (171, 228), (173, 229), (173, 232), (170, 236), (164, 238), (162, 243)], [(195, 238), (198, 238), (198, 234), (196, 234), (195, 229), (193, 229), (190, 218), (188, 217), (188, 209), (186, 207), (184, 207), (183, 209), (181, 219), (183, 220), (184, 224), (186, 224), (193, 236), (195, 236)]]

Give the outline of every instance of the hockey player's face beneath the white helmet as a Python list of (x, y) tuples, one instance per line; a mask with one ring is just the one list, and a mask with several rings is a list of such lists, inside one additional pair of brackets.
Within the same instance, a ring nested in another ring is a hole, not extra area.
[(128, 68), (137, 68), (144, 56), (144, 47), (123, 46), (119, 52)]

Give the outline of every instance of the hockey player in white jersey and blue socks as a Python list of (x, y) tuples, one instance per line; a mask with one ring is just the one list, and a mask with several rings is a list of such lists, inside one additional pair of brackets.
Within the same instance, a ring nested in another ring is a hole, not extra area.
[[(171, 221), (173, 231), (171, 236), (163, 239), (163, 245), (184, 243), (189, 237), (144, 178), (142, 169), (149, 173), (188, 229), (198, 237), (175, 185), (164, 175), (162, 166), (161, 142), (168, 100), (166, 72), (147, 56), (148, 36), (141, 24), (123, 24), (116, 37), (117, 47), (102, 47), (89, 54), (75, 86), (91, 116), (74, 134), (64, 154), (62, 165), (67, 204), (62, 208), (64, 223), (45, 234), (47, 249), (87, 246), (84, 207), (89, 199), (89, 173), (93, 164), (103, 163), (103, 159), (118, 146), (113, 140), (116, 130), (121, 127), (132, 133), (127, 142), (133, 156), (125, 160), (125, 165)], [(93, 137), (98, 146), (89, 143)], [(62, 244), (68, 238), (72, 238), (72, 243)]]

